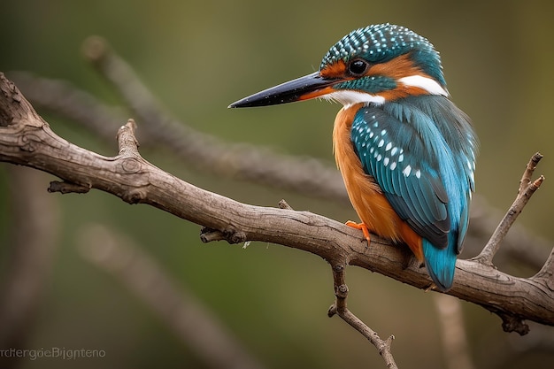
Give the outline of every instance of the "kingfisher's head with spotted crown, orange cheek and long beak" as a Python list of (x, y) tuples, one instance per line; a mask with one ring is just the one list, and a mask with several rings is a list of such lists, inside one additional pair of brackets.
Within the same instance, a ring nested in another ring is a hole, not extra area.
[(448, 96), (441, 58), (426, 38), (387, 24), (359, 28), (336, 42), (319, 71), (244, 97), (229, 107), (321, 97), (343, 105), (384, 104), (414, 95)]

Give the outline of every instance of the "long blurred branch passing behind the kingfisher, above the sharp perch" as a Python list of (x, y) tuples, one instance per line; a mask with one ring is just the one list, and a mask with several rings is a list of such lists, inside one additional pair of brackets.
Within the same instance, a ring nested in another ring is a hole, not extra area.
[[(97, 101), (94, 96), (73, 88), (67, 82), (37, 78), (28, 73), (12, 73), (12, 76), (33, 104), (88, 127), (108, 142), (111, 142), (113, 132), (118, 127), (114, 122), (126, 119), (121, 110), (106, 106)], [(135, 73), (128, 73), (127, 78), (137, 77)], [(133, 83), (140, 84), (140, 81)], [(135, 102), (133, 105), (140, 104)], [(166, 121), (172, 120), (167, 118), (167, 113), (159, 115)], [(217, 174), (219, 177), (237, 175), (248, 181), (261, 181), (274, 188), (289, 188), (306, 196), (320, 196), (337, 204), (350, 205), (338, 171), (327, 165), (318, 165), (319, 162), (315, 162), (314, 166), (311, 160), (277, 156), (258, 147), (229, 145), (212, 136), (198, 134), (192, 128), (186, 127), (183, 122), (162, 124), (154, 121), (142, 128), (147, 128), (150, 132), (146, 135), (144, 135), (145, 129), (138, 132), (142, 147), (154, 145), (169, 149), (183, 162), (195, 166), (200, 171)], [(141, 131), (142, 135), (140, 135)], [(202, 141), (203, 137), (207, 137), (208, 141)], [(209, 150), (206, 150), (208, 147)], [(189, 152), (187, 148), (194, 148), (194, 150)], [(212, 152), (219, 154), (211, 156)], [(224, 152), (225, 155), (220, 155)], [(238, 171), (235, 168), (237, 164), (241, 165)], [(273, 167), (277, 169), (272, 169)], [(285, 170), (287, 173), (284, 173)], [(306, 182), (306, 174), (313, 180), (309, 185)], [(285, 175), (286, 178), (283, 177)], [(283, 178), (284, 181), (282, 181)], [(491, 208), (482, 197), (474, 196), (471, 226), (464, 248), (466, 255), (476, 255), (482, 250), (482, 245), (489, 240), (490, 234), (501, 219), (502, 214)], [(506, 235), (503, 242), (505, 256), (530, 265), (535, 270), (541, 268), (548, 257), (548, 250), (552, 248), (551, 242), (542, 240), (517, 225), (511, 228), (511, 232)]]

